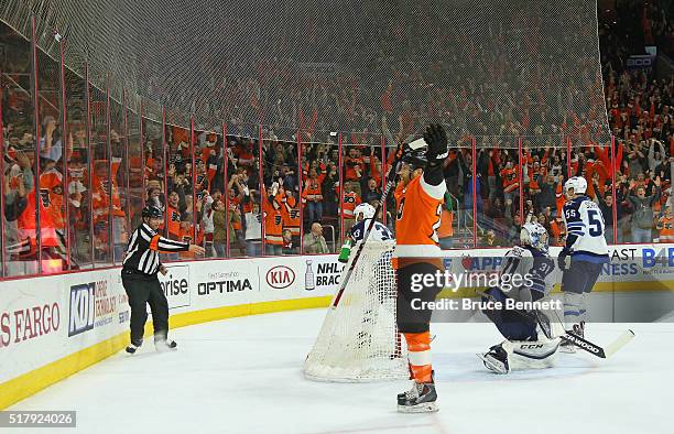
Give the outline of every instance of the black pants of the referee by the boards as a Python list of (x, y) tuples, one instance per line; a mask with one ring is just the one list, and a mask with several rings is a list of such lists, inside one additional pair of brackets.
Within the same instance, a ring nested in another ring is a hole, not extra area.
[(168, 301), (156, 275), (145, 275), (132, 270), (122, 270), (122, 285), (131, 306), (131, 343), (143, 340), (148, 311), (152, 311), (154, 339), (166, 339), (168, 335)]

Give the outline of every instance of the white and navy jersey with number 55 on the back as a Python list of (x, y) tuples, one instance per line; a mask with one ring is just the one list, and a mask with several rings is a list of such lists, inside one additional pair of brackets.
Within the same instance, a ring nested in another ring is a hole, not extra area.
[(564, 204), (566, 248), (574, 259), (609, 262), (606, 245), (606, 224), (599, 206), (587, 196), (578, 196)]

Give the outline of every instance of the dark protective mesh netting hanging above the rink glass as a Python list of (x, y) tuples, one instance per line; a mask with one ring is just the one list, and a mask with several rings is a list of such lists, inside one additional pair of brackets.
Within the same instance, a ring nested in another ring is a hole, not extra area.
[[(588, 0), (2, 0), (128, 91), (270, 130), (609, 134)], [(28, 28), (26, 28), (28, 26)], [(98, 73), (97, 73), (98, 72)]]

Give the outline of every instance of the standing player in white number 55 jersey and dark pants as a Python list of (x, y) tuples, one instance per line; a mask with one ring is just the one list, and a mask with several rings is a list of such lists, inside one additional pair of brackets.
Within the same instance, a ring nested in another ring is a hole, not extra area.
[[(605, 220), (599, 206), (585, 195), (587, 181), (574, 176), (564, 183), (564, 225), (566, 243), (557, 263), (562, 269), (564, 293), (564, 322), (567, 329), (585, 336), (587, 294), (593, 290), (602, 264), (609, 262), (605, 238)], [(572, 344), (564, 343), (562, 350), (575, 352)]]

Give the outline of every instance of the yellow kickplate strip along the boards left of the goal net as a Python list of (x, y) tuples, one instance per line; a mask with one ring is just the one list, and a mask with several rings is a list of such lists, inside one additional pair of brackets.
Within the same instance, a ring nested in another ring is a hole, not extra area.
[[(272, 302), (251, 303), (237, 306), (222, 306), (204, 311), (185, 312), (172, 315), (168, 319), (171, 328), (208, 323), (211, 321), (233, 318), (237, 316), (267, 314), (272, 312), (295, 311), (301, 308), (326, 307), (333, 300), (331, 295), (278, 300)], [(145, 336), (152, 334), (151, 323), (145, 324)], [(41, 368), (25, 372), (17, 378), (0, 383), (0, 410), (15, 404), (39, 391), (52, 386), (80, 370), (97, 364), (127, 346), (128, 332), (101, 343), (81, 349), (69, 356), (52, 361)]]

